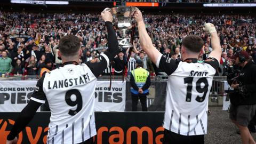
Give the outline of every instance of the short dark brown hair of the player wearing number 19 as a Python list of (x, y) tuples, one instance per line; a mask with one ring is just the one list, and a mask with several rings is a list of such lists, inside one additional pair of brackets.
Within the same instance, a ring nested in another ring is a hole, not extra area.
[(197, 35), (188, 35), (183, 39), (182, 45), (191, 52), (200, 52), (204, 45), (204, 41)]

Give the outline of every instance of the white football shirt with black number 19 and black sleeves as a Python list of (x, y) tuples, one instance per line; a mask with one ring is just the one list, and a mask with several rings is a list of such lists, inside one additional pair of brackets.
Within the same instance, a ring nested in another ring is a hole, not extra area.
[(208, 97), (218, 60), (179, 62), (159, 55), (156, 64), (168, 75), (164, 129), (181, 135), (206, 134)]

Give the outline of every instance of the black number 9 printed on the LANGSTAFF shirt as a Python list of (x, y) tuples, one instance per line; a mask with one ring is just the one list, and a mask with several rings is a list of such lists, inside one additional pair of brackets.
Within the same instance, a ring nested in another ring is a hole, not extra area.
[[(71, 100), (71, 95), (73, 95), (73, 94), (76, 95), (75, 101)], [(75, 110), (71, 110), (71, 109), (69, 110), (68, 114), (71, 116), (76, 115), (83, 107), (82, 95), (76, 89), (67, 91), (67, 93), (65, 95), (65, 100), (66, 100), (67, 104), (71, 107), (74, 107), (77, 105), (77, 108)]]

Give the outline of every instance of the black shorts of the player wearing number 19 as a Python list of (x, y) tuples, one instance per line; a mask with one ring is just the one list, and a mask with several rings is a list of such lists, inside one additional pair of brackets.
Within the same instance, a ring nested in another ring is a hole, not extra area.
[(204, 135), (180, 135), (164, 129), (163, 144), (203, 144)]

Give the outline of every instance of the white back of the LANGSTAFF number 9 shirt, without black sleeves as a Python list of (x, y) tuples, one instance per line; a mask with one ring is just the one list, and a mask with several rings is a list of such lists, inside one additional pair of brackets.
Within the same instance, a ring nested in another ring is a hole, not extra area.
[(85, 64), (65, 65), (45, 74), (43, 91), (51, 110), (49, 143), (54, 143), (54, 138), (63, 143), (78, 143), (96, 134), (96, 82), (97, 78)]

